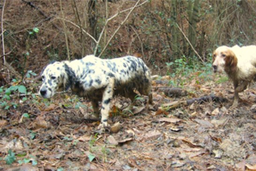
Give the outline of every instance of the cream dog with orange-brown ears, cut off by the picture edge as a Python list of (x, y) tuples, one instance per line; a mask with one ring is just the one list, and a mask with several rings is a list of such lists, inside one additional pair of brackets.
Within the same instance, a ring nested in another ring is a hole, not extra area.
[(225, 71), (233, 80), (233, 107), (238, 106), (238, 93), (245, 90), (251, 81), (256, 80), (256, 45), (233, 47), (220, 46), (213, 52), (214, 72)]

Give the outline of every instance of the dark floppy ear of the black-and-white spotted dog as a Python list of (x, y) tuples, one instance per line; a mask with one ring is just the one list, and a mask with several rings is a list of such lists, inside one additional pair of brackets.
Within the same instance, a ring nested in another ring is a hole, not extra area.
[(63, 89), (65, 91), (75, 82), (75, 72), (67, 64), (64, 64), (65, 75), (63, 75)]

